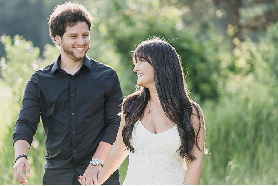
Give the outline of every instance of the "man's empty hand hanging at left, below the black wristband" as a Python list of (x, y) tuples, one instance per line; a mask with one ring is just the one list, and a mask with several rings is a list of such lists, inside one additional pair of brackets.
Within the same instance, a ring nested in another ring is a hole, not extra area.
[(22, 170), (25, 169), (27, 177), (30, 177), (30, 162), (24, 157), (19, 158), (14, 165), (12, 172), (16, 182), (20, 184), (28, 184), (26, 177), (24, 177)]

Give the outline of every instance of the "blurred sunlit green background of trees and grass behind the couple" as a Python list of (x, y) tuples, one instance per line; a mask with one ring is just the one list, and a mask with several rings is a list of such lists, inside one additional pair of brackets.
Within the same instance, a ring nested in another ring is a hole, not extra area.
[[(132, 52), (164, 36), (179, 53), (191, 98), (204, 110), (209, 153), (202, 185), (278, 184), (277, 1), (79, 1), (95, 18), (88, 56), (134, 92)], [(31, 74), (56, 61), (48, 17), (64, 1), (0, 1), (0, 183), (12, 174), (12, 135)], [(28, 153), (29, 185), (44, 174), (40, 123)], [(120, 167), (120, 181), (127, 171)], [(175, 179), (175, 178), (173, 178)]]

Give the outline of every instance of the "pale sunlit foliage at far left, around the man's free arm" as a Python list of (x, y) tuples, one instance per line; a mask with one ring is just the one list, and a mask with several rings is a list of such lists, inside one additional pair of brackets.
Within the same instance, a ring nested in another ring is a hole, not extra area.
[[(19, 115), (24, 88), (31, 74), (38, 67), (43, 67), (45, 62), (39, 58), (40, 50), (33, 47), (32, 42), (26, 41), (22, 36), (16, 35), (12, 40), (10, 36), (1, 36), (6, 51), (6, 57), (1, 58), (1, 128), (3, 135), (0, 137), (0, 162), (2, 170), (0, 182), (4, 185), (19, 185), (13, 179), (12, 167), (14, 162), (14, 148), (12, 135), (14, 124)], [(31, 163), (31, 177), (29, 183), (40, 185), (44, 174), (44, 130), (40, 123), (28, 157)]]

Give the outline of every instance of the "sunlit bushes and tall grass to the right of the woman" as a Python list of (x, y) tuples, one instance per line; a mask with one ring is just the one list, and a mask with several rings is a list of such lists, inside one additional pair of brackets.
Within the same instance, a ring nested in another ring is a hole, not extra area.
[(218, 103), (203, 106), (211, 149), (203, 167), (216, 171), (204, 170), (201, 184), (278, 183), (277, 52), (269, 40), (276, 36), (277, 26), (270, 27), (258, 45), (248, 38), (239, 44), (240, 53), (233, 56), (236, 70), (222, 78)]

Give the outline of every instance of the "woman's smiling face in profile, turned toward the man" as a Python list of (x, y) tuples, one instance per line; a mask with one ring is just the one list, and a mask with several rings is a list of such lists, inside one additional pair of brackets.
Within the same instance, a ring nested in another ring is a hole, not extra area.
[(137, 85), (148, 89), (155, 89), (155, 74), (154, 68), (144, 59), (139, 59), (136, 56), (137, 64), (133, 71), (138, 76)]

